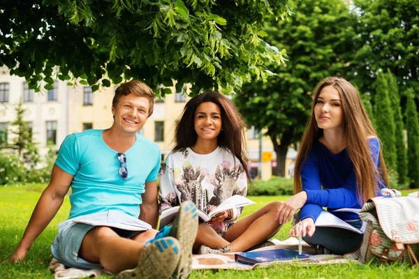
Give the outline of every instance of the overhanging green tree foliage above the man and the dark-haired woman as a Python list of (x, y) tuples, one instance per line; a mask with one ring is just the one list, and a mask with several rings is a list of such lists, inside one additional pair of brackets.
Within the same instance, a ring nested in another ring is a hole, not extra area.
[(37, 90), (41, 81), (52, 89), (57, 70), (93, 91), (135, 78), (158, 92), (177, 80), (179, 91), (191, 83), (193, 94), (231, 93), (281, 63), (262, 27), (288, 13), (286, 0), (2, 1), (0, 65)]

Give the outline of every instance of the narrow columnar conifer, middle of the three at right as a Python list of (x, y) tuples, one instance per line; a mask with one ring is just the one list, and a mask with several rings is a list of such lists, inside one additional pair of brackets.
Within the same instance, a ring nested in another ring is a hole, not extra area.
[[(406, 143), (404, 142), (404, 123), (402, 108), (400, 107), (400, 95), (397, 80), (390, 70), (387, 70), (386, 80), (388, 81), (388, 93), (391, 102), (391, 110), (394, 113), (395, 123), (395, 146), (396, 146), (396, 165), (399, 177), (399, 186), (404, 186), (407, 182), (407, 154)], [(393, 187), (393, 186), (392, 186)]]

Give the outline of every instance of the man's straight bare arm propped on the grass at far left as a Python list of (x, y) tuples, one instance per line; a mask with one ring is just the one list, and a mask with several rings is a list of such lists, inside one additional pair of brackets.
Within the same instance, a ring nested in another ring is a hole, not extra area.
[(57, 214), (68, 192), (68, 188), (71, 186), (73, 177), (73, 175), (64, 172), (57, 165), (54, 165), (51, 181), (39, 198), (22, 239), (9, 259), (10, 262), (17, 262), (24, 259), (36, 238)]

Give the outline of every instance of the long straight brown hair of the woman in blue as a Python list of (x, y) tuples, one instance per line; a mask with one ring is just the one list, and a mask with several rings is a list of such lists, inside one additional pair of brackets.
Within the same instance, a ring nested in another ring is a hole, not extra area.
[(368, 146), (368, 138), (377, 137), (376, 131), (362, 105), (358, 91), (351, 83), (340, 77), (326, 77), (316, 87), (309, 121), (304, 130), (300, 149), (295, 159), (294, 193), (302, 191), (301, 169), (304, 166), (304, 161), (309, 156), (313, 143), (323, 135), (323, 129), (318, 128), (316, 123), (314, 107), (321, 90), (325, 86), (333, 86), (339, 92), (341, 98), (345, 121), (346, 151), (352, 160), (355, 170), (358, 199), (360, 204), (364, 204), (368, 199), (377, 195), (378, 178), (383, 180), (385, 186), (389, 186), (387, 169), (381, 149), (378, 159), (379, 168), (374, 165)]

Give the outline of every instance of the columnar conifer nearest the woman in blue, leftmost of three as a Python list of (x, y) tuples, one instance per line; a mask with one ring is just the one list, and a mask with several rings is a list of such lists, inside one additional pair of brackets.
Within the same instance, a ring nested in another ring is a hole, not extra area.
[(383, 146), (383, 156), (385, 164), (393, 170), (396, 166), (396, 137), (395, 137), (395, 121), (392, 107), (387, 75), (378, 73), (374, 82), (375, 89), (375, 105), (374, 105), (374, 121), (375, 128)]

